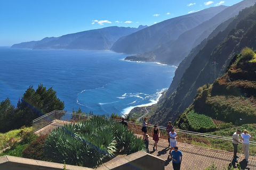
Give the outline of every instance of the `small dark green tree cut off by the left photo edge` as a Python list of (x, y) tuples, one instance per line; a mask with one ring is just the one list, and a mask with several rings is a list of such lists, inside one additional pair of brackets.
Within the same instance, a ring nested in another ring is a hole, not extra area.
[(3, 100), (0, 104), (0, 132), (7, 132), (12, 127), (14, 115), (14, 106), (11, 105), (9, 98)]

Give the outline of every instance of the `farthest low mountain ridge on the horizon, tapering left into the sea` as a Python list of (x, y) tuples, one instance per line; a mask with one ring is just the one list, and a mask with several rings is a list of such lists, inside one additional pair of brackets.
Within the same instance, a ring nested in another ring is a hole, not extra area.
[(46, 37), (40, 41), (14, 44), (12, 48), (106, 50), (110, 49), (119, 38), (130, 35), (143, 28), (147, 28), (147, 25), (140, 25), (138, 28), (106, 27), (71, 33), (61, 37)]

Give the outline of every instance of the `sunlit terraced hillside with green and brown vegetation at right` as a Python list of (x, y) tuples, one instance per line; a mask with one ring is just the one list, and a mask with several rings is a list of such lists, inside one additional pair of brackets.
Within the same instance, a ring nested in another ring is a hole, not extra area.
[[(195, 113), (207, 117), (193, 122), (190, 115)], [(234, 125), (255, 123), (256, 54), (252, 49), (243, 48), (222, 77), (197, 89), (193, 104), (179, 117), (177, 125), (187, 130), (208, 131), (214, 129), (211, 124), (198, 126), (196, 122), (206, 122), (210, 117)]]

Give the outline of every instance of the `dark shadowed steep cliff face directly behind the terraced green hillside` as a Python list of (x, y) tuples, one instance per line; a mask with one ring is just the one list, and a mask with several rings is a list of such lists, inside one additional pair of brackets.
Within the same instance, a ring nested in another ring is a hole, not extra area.
[(196, 90), (223, 75), (234, 55), (245, 46), (256, 46), (256, 5), (239, 12), (226, 29), (207, 41), (191, 60), (174, 93), (167, 91), (169, 95), (152, 119), (161, 117), (160, 124), (174, 121), (193, 102)]

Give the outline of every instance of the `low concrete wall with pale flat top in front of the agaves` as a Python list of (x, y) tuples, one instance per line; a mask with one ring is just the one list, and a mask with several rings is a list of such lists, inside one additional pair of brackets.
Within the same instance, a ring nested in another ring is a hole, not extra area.
[[(97, 170), (133, 170), (133, 169), (148, 169), (148, 170), (164, 170), (165, 160), (156, 156), (139, 151), (134, 154), (117, 157), (109, 162), (101, 165)], [(60, 170), (63, 169), (64, 164), (50, 163), (41, 160), (20, 158), (14, 156), (1, 156), (0, 169), (2, 170)], [(92, 170), (81, 166), (66, 165), (66, 169), (76, 170)]]

